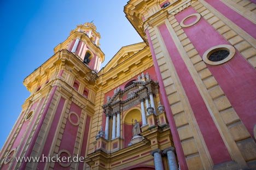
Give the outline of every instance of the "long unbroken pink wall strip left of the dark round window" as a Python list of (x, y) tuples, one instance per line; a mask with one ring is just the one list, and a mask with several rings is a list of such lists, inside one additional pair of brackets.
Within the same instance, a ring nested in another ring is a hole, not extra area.
[[(179, 14), (185, 13), (185, 10)], [(189, 74), (187, 66), (183, 62), (181, 55), (173, 42), (173, 39), (166, 27), (166, 25), (159, 26), (162, 38), (164, 39), (168, 53), (171, 56), (174, 68), (177, 71), (179, 80), (185, 90), (185, 94), (189, 99), (189, 103), (194, 112), (197, 124), (201, 130), (202, 136), (210, 152), (214, 165), (231, 161), (231, 157), (226, 149), (222, 137), (214, 124), (211, 114), (208, 112), (205, 102), (203, 101), (193, 78)], [(214, 145), (212, 144), (214, 143)]]

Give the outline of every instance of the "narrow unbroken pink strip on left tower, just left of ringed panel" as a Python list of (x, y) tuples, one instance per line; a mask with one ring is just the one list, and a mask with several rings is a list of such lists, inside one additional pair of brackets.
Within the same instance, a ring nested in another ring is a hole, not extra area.
[[(45, 144), (44, 144), (44, 146), (42, 146), (42, 147), (44, 147), (44, 149), (42, 151), (42, 155), (49, 155), (49, 151), (50, 151), (51, 145), (53, 144), (53, 139), (55, 137), (55, 133), (56, 133), (56, 130), (57, 130), (57, 126), (58, 126), (58, 123), (59, 123), (59, 120), (60, 120), (60, 117), (61, 117), (61, 112), (63, 110), (63, 106), (65, 104), (65, 101), (66, 101), (66, 99), (61, 98), (60, 102), (59, 102), (59, 105), (57, 106), (57, 110), (56, 110), (56, 113), (55, 113), (55, 116), (54, 116), (54, 119), (53, 119), (53, 123), (51, 124), (51, 127), (50, 127), (50, 130), (49, 130), (48, 136), (46, 138)], [(45, 163), (46, 162), (39, 162), (38, 166), (37, 166), (37, 169), (44, 169)]]

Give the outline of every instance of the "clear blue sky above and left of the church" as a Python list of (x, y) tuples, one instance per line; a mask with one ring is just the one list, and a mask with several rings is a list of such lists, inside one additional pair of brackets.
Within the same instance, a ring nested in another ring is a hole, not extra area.
[(123, 12), (127, 0), (0, 1), (1, 118), (0, 148), (30, 95), (22, 82), (53, 55), (53, 48), (84, 22), (94, 23), (101, 34), (103, 65), (122, 46), (142, 39)]

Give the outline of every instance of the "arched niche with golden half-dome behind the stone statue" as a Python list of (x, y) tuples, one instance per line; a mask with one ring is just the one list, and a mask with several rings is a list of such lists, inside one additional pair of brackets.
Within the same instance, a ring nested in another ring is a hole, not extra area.
[(124, 146), (128, 147), (128, 144), (132, 139), (132, 123), (134, 124), (135, 119), (141, 124), (141, 110), (138, 107), (133, 107), (126, 111), (123, 118), (123, 136), (124, 136)]

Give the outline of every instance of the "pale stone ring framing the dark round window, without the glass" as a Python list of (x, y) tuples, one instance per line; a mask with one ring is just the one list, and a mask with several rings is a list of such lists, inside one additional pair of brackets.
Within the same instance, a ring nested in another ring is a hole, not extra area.
[[(228, 57), (224, 58), (223, 60), (220, 60), (218, 62), (212, 62), (211, 60), (209, 60), (209, 56), (213, 53), (216, 52), (218, 50), (228, 50), (229, 51), (229, 55)], [(235, 48), (231, 45), (226, 45), (226, 44), (222, 44), (222, 45), (217, 45), (214, 47), (209, 48), (205, 53), (203, 53), (202, 59), (205, 63), (210, 64), (210, 65), (219, 65), (219, 64), (223, 64), (228, 62), (230, 59), (232, 59), (235, 55)]]

